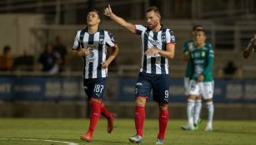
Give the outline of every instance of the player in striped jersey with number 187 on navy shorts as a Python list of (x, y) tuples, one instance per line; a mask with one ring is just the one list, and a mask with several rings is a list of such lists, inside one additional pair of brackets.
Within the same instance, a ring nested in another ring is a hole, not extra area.
[[(118, 46), (111, 33), (99, 27), (100, 21), (100, 13), (95, 9), (90, 10), (87, 15), (87, 27), (77, 32), (73, 44), (73, 53), (83, 57), (83, 87), (91, 105), (88, 133), (80, 137), (88, 142), (92, 140), (101, 114), (108, 119), (108, 133), (113, 131), (114, 114), (105, 108), (103, 94), (108, 65), (118, 55)], [(113, 51), (106, 58), (108, 47)]]

